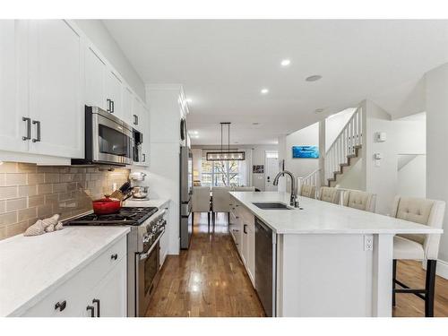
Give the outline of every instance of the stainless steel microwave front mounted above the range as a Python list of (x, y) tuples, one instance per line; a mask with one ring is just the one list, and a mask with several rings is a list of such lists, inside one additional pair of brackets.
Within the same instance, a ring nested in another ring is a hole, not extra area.
[(127, 165), (134, 156), (132, 127), (100, 109), (91, 111), (92, 161)]

